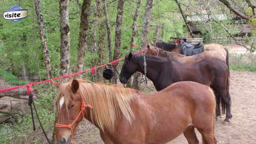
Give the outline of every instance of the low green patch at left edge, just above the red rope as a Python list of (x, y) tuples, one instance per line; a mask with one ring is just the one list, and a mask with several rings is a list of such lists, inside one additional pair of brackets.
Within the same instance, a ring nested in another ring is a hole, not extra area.
[(20, 80), (16, 76), (12, 75), (10, 72), (6, 72), (3, 69), (0, 69), (0, 77), (2, 77), (5, 82), (11, 85), (19, 86), (28, 84), (28, 81)]

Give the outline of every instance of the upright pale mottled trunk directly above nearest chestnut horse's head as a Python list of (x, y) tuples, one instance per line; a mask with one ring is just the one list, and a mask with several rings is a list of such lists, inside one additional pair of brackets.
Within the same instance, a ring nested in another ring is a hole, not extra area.
[(60, 76), (68, 75), (70, 73), (68, 2), (69, 0), (60, 0)]

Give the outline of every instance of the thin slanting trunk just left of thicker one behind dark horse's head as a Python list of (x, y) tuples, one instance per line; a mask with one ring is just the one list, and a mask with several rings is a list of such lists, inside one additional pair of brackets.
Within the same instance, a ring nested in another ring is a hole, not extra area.
[[(130, 48), (130, 52), (133, 52), (133, 46), (132, 44), (135, 43), (135, 36), (136, 36), (136, 28), (137, 28), (137, 19), (139, 17), (139, 10), (140, 10), (140, 6), (141, 6), (141, 0), (138, 0), (137, 2), (137, 7), (135, 10), (135, 14), (133, 16), (133, 23), (132, 23), (132, 40), (131, 40), (131, 48)], [(132, 81), (133, 78), (131, 77), (130, 79), (128, 79), (128, 82), (126, 84), (126, 87), (131, 88), (132, 87)]]

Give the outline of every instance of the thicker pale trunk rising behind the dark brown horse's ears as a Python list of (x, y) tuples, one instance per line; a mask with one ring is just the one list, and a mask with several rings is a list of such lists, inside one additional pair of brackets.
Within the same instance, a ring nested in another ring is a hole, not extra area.
[[(147, 48), (147, 44), (148, 44), (147, 39), (148, 39), (148, 34), (149, 34), (149, 22), (150, 22), (151, 14), (152, 14), (152, 6), (153, 6), (153, 0), (147, 0), (146, 12), (145, 12), (144, 22), (143, 22), (143, 27), (142, 27), (140, 49)], [(139, 80), (140, 80), (141, 75), (142, 74), (139, 72), (135, 73), (132, 88), (140, 90), (140, 81)]]

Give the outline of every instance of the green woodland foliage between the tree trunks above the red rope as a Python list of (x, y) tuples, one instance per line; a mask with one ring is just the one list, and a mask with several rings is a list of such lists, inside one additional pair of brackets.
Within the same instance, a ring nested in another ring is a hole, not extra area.
[[(79, 1), (82, 4), (82, 1)], [(117, 1), (107, 0), (108, 13), (111, 25), (112, 45), (114, 52), (115, 42), (115, 21), (117, 14)], [(43, 13), (43, 19), (45, 24), (45, 32), (47, 38), (47, 45), (49, 47), (51, 66), (53, 70), (53, 76), (59, 76), (60, 70), (60, 22), (59, 22), (59, 3), (57, 0), (41, 0), (41, 8)], [(179, 15), (171, 10), (176, 10), (176, 4), (174, 1), (162, 0), (154, 2), (153, 16), (154, 19), (150, 22), (149, 40), (152, 40), (155, 35), (155, 25), (164, 26), (164, 41), (170, 39), (170, 37), (183, 35), (183, 21), (179, 19)], [(0, 13), (4, 13), (12, 5), (17, 4), (22, 8), (28, 9), (28, 17), (19, 21), (6, 21), (3, 17), (0, 17), (0, 58), (4, 61), (0, 62), (1, 67), (10, 71), (13, 75), (21, 75), (22, 63), (27, 65), (28, 73), (30, 76), (38, 76), (40, 78), (46, 77), (45, 66), (43, 62), (43, 53), (41, 40), (39, 37), (39, 28), (37, 24), (36, 11), (32, 0), (23, 0), (22, 2), (17, 0), (0, 1), (1, 9)], [(101, 3), (102, 4), (102, 3)], [(137, 34), (135, 38), (135, 44), (140, 45), (141, 31), (145, 14), (146, 0), (142, 0), (142, 6), (137, 21)], [(124, 3), (124, 16), (122, 22), (122, 42), (121, 42), (121, 57), (128, 54), (130, 48), (132, 23), (135, 8), (137, 7), (135, 1), (125, 1)], [(103, 10), (103, 7), (101, 7)], [(92, 0), (92, 9), (90, 21), (94, 21), (96, 12), (95, 1)], [(69, 2), (69, 21), (70, 21), (70, 40), (71, 40), (71, 71), (75, 69), (75, 62), (78, 52), (78, 40), (80, 31), (80, 16), (81, 6), (77, 4), (77, 1)], [(108, 48), (107, 48), (107, 32), (105, 27), (105, 17), (102, 14), (103, 22), (103, 42), (105, 46), (105, 62), (108, 60)], [(96, 22), (97, 23), (97, 18)], [(96, 41), (98, 41), (98, 28), (96, 26)], [(89, 28), (88, 47), (92, 46), (92, 30)], [(89, 68), (92, 65), (93, 58), (96, 58), (95, 54), (86, 53), (85, 68)]]

